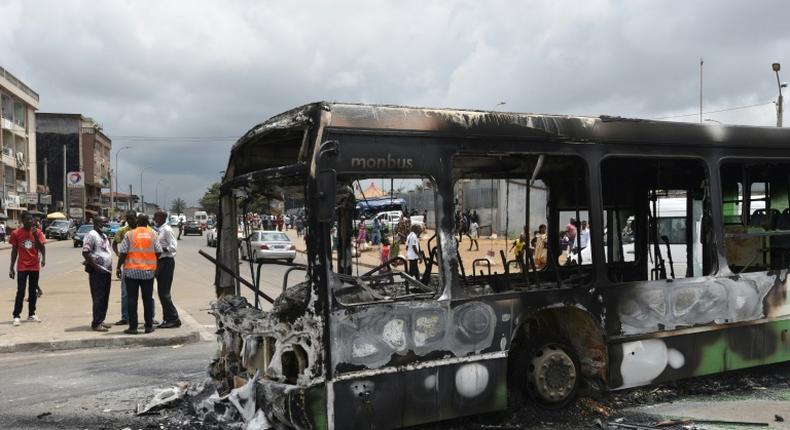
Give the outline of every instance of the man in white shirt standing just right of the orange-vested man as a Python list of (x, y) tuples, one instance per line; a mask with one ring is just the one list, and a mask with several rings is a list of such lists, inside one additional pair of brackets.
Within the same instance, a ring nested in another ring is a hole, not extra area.
[(167, 222), (167, 213), (158, 211), (154, 214), (154, 223), (159, 228), (156, 242), (162, 248), (159, 261), (156, 266), (156, 288), (159, 291), (159, 302), (162, 304), (162, 324), (159, 328), (181, 327), (181, 320), (178, 318), (178, 311), (173, 305), (173, 298), (170, 295), (170, 288), (173, 285), (173, 273), (176, 269), (176, 248), (178, 243), (173, 229)]

